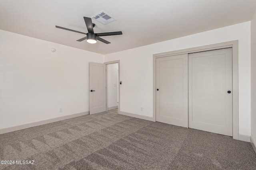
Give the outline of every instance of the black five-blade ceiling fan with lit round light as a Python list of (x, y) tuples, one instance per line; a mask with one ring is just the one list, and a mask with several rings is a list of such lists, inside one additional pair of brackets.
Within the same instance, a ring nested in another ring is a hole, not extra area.
[(55, 25), (55, 27), (56, 28), (60, 28), (60, 29), (65, 29), (65, 30), (68, 30), (68, 31), (73, 31), (73, 32), (76, 32), (76, 33), (86, 34), (86, 37), (83, 37), (83, 38), (78, 39), (76, 41), (84, 41), (84, 40), (86, 40), (88, 43), (91, 43), (91, 44), (97, 43), (97, 40), (99, 40), (99, 41), (101, 41), (103, 43), (109, 44), (110, 42), (106, 41), (105, 39), (100, 38), (100, 36), (121, 35), (121, 34), (123, 34), (122, 31), (108, 32), (108, 33), (94, 33), (93, 27), (95, 26), (95, 24), (92, 23), (92, 19), (88, 18), (88, 17), (84, 17), (84, 21), (85, 21), (88, 33), (83, 33), (83, 32), (80, 32), (80, 31), (75, 31), (73, 29), (68, 29), (68, 28), (57, 26), (57, 25)]

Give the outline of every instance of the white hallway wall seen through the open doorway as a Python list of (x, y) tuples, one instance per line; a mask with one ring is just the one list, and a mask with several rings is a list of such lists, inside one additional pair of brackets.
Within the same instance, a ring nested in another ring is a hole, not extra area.
[(118, 63), (108, 64), (108, 107), (118, 106), (117, 87), (118, 87)]

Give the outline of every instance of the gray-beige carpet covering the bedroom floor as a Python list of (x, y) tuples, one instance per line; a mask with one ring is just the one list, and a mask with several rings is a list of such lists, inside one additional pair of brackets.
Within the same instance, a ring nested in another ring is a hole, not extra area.
[(0, 160), (35, 160), (6, 170), (256, 170), (250, 143), (110, 111), (2, 134)]

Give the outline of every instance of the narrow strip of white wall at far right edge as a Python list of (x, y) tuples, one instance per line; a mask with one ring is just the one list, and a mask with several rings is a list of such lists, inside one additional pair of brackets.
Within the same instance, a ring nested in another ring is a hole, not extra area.
[(256, 10), (251, 21), (251, 137), (256, 144)]

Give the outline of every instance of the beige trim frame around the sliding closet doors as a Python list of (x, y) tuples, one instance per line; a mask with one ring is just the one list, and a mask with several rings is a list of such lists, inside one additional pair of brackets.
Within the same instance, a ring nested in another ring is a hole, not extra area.
[(238, 110), (238, 40), (204, 45), (188, 49), (153, 54), (153, 121), (156, 121), (156, 58), (172, 55), (189, 54), (232, 47), (232, 111), (233, 139), (239, 140), (239, 110)]

